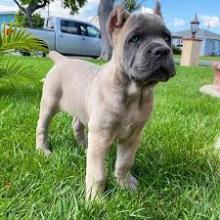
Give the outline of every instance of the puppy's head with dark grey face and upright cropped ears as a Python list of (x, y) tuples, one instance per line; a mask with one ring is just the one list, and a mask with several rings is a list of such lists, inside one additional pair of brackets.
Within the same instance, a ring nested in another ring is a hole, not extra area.
[(108, 30), (124, 74), (141, 85), (155, 85), (174, 76), (171, 34), (157, 3), (154, 14), (130, 15), (122, 6), (110, 14)]

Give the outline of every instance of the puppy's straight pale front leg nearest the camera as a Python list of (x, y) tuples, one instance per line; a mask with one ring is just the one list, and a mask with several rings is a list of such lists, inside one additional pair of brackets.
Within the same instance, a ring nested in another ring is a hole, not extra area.
[(86, 164), (86, 199), (93, 200), (105, 189), (105, 157), (113, 138), (105, 131), (89, 131)]

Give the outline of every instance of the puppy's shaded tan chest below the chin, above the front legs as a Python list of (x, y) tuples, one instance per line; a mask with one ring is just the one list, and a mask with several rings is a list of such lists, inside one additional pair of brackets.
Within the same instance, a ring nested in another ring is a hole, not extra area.
[(143, 90), (131, 83), (124, 96), (119, 95), (116, 104), (117, 138), (127, 139), (136, 129), (144, 126), (153, 109), (151, 91)]

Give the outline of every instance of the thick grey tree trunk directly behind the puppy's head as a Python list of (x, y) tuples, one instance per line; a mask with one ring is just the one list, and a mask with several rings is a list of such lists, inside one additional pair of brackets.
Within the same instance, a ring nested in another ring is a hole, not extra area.
[(99, 24), (102, 36), (102, 53), (99, 59), (110, 60), (112, 56), (112, 45), (107, 31), (109, 14), (113, 9), (114, 0), (100, 0), (98, 8)]

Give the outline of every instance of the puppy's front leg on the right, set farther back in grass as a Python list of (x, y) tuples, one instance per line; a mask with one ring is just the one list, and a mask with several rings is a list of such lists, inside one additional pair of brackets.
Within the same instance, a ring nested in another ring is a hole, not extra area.
[(117, 159), (115, 165), (115, 176), (118, 184), (123, 188), (135, 190), (137, 179), (133, 177), (130, 170), (134, 164), (135, 154), (138, 148), (141, 132), (135, 137), (121, 141), (117, 147)]

